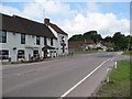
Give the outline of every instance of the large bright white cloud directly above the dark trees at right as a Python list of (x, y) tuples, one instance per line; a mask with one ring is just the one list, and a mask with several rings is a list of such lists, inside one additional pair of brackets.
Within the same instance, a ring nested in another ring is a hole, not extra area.
[(119, 20), (113, 13), (90, 12), (87, 16), (78, 13), (73, 21), (65, 21), (61, 25), (69, 33), (69, 37), (91, 30), (98, 31), (102, 37), (112, 36), (116, 32), (130, 33), (129, 20)]

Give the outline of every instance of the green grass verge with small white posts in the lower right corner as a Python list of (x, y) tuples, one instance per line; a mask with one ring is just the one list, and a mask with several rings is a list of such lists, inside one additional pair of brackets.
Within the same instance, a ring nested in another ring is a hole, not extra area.
[(130, 97), (130, 64), (132, 62), (118, 62), (118, 68), (109, 75), (110, 81), (100, 87), (96, 97)]

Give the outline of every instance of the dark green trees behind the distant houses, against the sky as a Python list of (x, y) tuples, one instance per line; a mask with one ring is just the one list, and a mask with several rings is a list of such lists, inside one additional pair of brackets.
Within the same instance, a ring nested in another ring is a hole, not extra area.
[(84, 43), (92, 41), (95, 44), (101, 42), (106, 46), (108, 45), (108, 47), (113, 47), (114, 51), (132, 50), (132, 36), (125, 36), (124, 34), (121, 34), (121, 32), (116, 32), (112, 37), (107, 36), (102, 38), (101, 35), (97, 33), (97, 31), (89, 31), (84, 34), (74, 35), (69, 38), (69, 42), (75, 41), (82, 41)]

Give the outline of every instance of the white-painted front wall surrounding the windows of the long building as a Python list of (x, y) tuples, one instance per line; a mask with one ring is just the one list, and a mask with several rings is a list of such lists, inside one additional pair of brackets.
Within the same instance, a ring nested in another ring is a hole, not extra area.
[[(53, 40), (53, 47), (56, 47), (56, 40)], [(51, 45), (51, 38), (47, 37), (47, 44)], [(18, 51), (25, 51), (25, 59), (29, 61), (29, 55), (33, 56), (33, 51), (38, 50), (40, 56), (43, 56), (42, 47), (44, 47), (44, 37), (41, 36), (41, 44), (36, 45), (36, 36), (35, 35), (25, 35), (25, 44), (21, 44), (21, 34), (7, 32), (7, 43), (0, 43), (0, 50), (8, 50), (9, 57), (11, 57), (11, 62), (18, 61)], [(16, 50), (13, 50), (16, 47)]]

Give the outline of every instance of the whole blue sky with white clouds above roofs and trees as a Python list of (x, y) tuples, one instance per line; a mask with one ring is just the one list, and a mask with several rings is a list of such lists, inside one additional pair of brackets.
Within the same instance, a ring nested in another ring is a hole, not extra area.
[(0, 13), (41, 23), (48, 18), (68, 37), (92, 30), (102, 37), (130, 34), (130, 0), (2, 0)]

